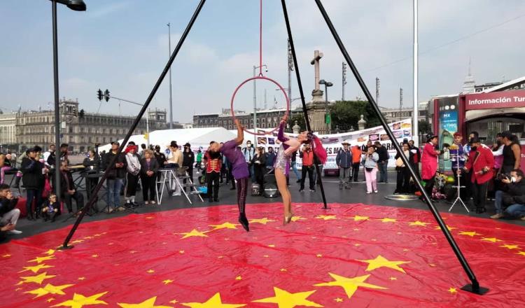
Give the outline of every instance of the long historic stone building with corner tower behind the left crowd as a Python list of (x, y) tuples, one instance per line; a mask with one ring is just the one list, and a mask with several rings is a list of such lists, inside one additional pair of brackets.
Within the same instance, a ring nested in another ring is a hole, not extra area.
[[(133, 116), (83, 113), (77, 101), (66, 99), (60, 102), (60, 116), (60, 142), (69, 144), (72, 152), (85, 152), (94, 144), (123, 139), (134, 121)], [(149, 111), (148, 120), (150, 132), (167, 128), (166, 111)], [(133, 134), (146, 134), (145, 118)], [(16, 113), (16, 141), (21, 148), (35, 144), (48, 148), (55, 143), (55, 111)]]

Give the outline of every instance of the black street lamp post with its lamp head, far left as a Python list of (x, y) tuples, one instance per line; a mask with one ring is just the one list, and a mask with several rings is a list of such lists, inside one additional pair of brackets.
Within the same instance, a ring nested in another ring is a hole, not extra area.
[[(60, 104), (58, 92), (58, 35), (57, 35), (57, 3), (65, 4), (71, 10), (83, 11), (85, 10), (85, 3), (83, 0), (51, 0), (52, 8), (52, 36), (53, 36), (53, 85), (55, 87), (55, 146), (58, 149), (60, 146)], [(60, 153), (57, 155), (55, 150), (55, 194), (57, 201), (60, 202)]]

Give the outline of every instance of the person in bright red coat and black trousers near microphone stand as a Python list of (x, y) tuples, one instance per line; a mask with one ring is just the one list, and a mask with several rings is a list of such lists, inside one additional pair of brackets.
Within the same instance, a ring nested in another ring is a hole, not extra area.
[[(489, 186), (489, 181), (492, 179), (492, 170), (494, 168), (494, 156), (489, 148), (482, 146), (479, 138), (474, 137), (469, 141), (470, 153), (468, 160), (463, 167), (463, 172), (471, 172), (472, 176), (472, 199), (476, 206), (476, 213), (481, 214), (486, 211), (486, 188)], [(458, 169), (461, 172), (461, 169)]]

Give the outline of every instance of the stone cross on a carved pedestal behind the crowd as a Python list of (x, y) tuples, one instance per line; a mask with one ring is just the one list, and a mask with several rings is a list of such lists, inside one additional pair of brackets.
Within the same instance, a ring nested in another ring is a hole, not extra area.
[(311, 101), (307, 104), (308, 118), (311, 124), (311, 130), (319, 134), (328, 134), (325, 124), (326, 106), (323, 99), (323, 91), (319, 88), (319, 61), (323, 57), (323, 52), (319, 50), (314, 51), (314, 59), (310, 64), (314, 65), (315, 70), (315, 86), (311, 91)]

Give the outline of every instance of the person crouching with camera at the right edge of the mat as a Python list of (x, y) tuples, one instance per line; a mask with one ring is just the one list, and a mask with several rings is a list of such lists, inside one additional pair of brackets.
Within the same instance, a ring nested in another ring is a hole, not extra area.
[[(525, 216), (525, 181), (522, 181), (523, 178), (524, 173), (521, 169), (514, 169), (510, 174), (498, 176), (502, 186), (500, 190), (496, 190), (494, 200), (496, 214), (491, 216), (492, 219), (503, 218), (505, 214), (508, 216)], [(503, 207), (507, 207), (507, 209), (503, 210)], [(521, 215), (519, 215), (520, 209)], [(525, 221), (525, 218), (521, 217), (521, 220)]]

